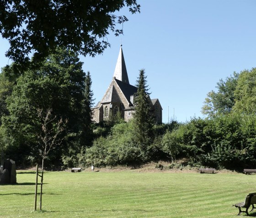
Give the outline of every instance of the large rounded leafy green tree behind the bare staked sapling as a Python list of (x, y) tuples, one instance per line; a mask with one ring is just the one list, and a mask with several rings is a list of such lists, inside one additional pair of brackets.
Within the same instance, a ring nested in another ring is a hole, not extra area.
[[(12, 153), (15, 159), (37, 161), (39, 150), (38, 132), (41, 122), (37, 110), (52, 108), (56, 119), (68, 119), (65, 137), (61, 147), (48, 155), (51, 161), (60, 163), (60, 156), (68, 147), (68, 142), (78, 141), (82, 129), (82, 101), (85, 89), (85, 73), (82, 62), (75, 53), (58, 49), (48, 56), (37, 71), (28, 70), (21, 75), (11, 96), (7, 99), (9, 116), (3, 119), (3, 125), (11, 137), (15, 138)], [(15, 148), (15, 149), (14, 149)], [(10, 150), (11, 151), (11, 150)]]

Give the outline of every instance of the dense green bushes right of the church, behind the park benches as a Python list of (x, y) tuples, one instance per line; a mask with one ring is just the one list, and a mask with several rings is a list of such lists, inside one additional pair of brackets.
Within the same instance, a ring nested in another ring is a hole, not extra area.
[(256, 116), (229, 114), (192, 120), (163, 137), (163, 149), (195, 165), (242, 169), (256, 164)]

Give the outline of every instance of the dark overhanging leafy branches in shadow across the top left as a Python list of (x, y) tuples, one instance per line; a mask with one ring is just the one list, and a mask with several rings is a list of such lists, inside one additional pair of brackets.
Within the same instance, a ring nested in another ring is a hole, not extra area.
[(101, 54), (107, 35), (123, 33), (116, 25), (128, 21), (114, 15), (123, 7), (139, 12), (136, 0), (1, 0), (0, 34), (10, 43), (6, 56), (18, 63), (43, 59), (56, 46), (82, 55)]

